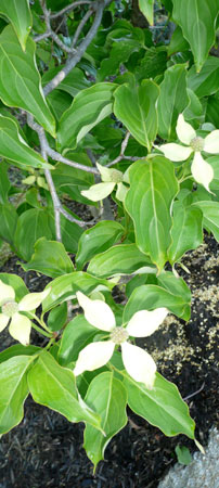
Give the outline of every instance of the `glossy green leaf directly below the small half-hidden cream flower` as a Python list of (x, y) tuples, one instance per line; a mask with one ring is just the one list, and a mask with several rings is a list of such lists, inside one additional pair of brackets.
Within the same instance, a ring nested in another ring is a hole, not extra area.
[(123, 226), (113, 220), (104, 220), (86, 230), (78, 243), (77, 269), (81, 269), (93, 256), (113, 246), (124, 232)]

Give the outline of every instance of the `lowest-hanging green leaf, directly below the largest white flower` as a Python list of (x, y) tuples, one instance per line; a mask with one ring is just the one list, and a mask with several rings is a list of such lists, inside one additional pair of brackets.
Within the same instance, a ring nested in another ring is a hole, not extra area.
[(104, 459), (104, 451), (112, 439), (126, 424), (127, 393), (123, 383), (112, 372), (99, 374), (89, 385), (87, 403), (101, 415), (101, 426), (105, 436), (92, 427), (86, 426), (83, 447), (88, 458), (94, 464)]

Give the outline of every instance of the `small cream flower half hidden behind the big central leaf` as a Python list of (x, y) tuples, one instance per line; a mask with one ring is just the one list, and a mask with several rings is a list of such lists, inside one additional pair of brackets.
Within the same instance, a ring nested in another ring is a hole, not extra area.
[(98, 169), (101, 174), (102, 183), (93, 184), (89, 190), (82, 190), (81, 195), (92, 202), (99, 202), (100, 200), (106, 198), (114, 188), (117, 185), (116, 197), (124, 202), (128, 188), (123, 183), (124, 175), (118, 169), (110, 169), (105, 166), (99, 165), (96, 163)]

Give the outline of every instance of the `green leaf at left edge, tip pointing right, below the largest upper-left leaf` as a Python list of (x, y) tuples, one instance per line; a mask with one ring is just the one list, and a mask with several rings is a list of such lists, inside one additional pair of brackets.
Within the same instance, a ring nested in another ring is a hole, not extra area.
[(33, 166), (34, 168), (52, 169), (52, 166), (46, 163), (40, 154), (30, 149), (22, 139), (16, 124), (2, 115), (0, 115), (0, 156), (18, 163), (23, 168)]

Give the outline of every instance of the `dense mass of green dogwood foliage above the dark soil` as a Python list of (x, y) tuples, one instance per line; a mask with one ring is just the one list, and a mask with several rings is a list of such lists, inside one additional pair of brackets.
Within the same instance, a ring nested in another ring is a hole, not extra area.
[[(154, 3), (139, 1), (151, 24)], [(175, 265), (203, 242), (204, 229), (219, 240), (219, 57), (212, 49), (219, 0), (158, 7), (176, 26), (165, 42), (153, 27), (132, 25), (125, 0), (0, 5), (0, 239), (25, 271), (52, 279), (41, 317), (21, 311), (49, 338), (46, 348), (15, 345), (0, 354), (0, 433), (21, 421), (30, 391), (70, 422), (86, 423), (85, 448), (94, 465), (126, 424), (127, 403), (167, 436), (194, 439), (177, 387), (158, 373), (152, 389), (133, 380), (119, 349), (76, 378), (80, 351), (104, 336), (83, 314), (69, 321), (67, 313), (67, 303), (78, 306), (79, 291), (108, 304), (118, 325), (163, 307), (186, 321), (191, 294)], [(202, 147), (212, 175), (207, 189), (202, 178), (194, 180), (191, 152), (185, 160), (163, 154), (166, 142), (178, 142), (181, 114), (198, 141), (214, 132), (212, 155)], [(107, 201), (99, 201), (108, 194), (116, 217), (105, 219)], [(94, 224), (70, 211), (67, 201), (95, 210)], [(119, 281), (124, 275), (127, 284)], [(0, 273), (0, 280), (13, 287), (16, 303), (28, 293), (14, 274)], [(116, 284), (125, 306), (112, 298)], [(8, 301), (0, 300), (3, 310)]]

